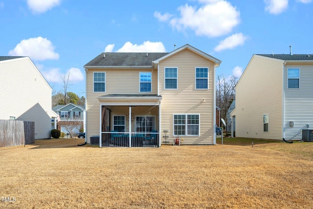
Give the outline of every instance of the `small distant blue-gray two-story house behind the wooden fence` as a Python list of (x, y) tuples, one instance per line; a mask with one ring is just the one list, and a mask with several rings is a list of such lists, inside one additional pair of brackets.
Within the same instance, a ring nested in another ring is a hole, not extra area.
[(86, 121), (85, 105), (57, 105), (52, 110), (58, 114), (57, 129), (65, 134), (80, 133), (84, 130)]

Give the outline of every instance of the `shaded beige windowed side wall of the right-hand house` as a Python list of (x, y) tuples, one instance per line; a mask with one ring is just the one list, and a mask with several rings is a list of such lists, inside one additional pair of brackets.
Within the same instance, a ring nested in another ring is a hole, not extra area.
[[(254, 55), (236, 86), (236, 137), (282, 139), (283, 62)], [(268, 132), (263, 115), (268, 114)]]

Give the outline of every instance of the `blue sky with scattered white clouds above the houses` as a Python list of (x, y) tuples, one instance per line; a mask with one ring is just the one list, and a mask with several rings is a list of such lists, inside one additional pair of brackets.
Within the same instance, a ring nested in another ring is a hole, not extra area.
[(189, 44), (240, 77), (253, 54), (313, 53), (313, 0), (0, 0), (0, 56), (29, 56), (55, 92), (85, 96), (83, 66), (101, 52)]

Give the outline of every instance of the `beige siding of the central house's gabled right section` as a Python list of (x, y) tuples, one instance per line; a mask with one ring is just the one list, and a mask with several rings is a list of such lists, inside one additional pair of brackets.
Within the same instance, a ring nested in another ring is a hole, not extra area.
[[(164, 85), (164, 68), (178, 68), (178, 89), (167, 90)], [(195, 68), (207, 67), (209, 89), (196, 90)], [(200, 136), (180, 136), (183, 144), (214, 143), (214, 63), (185, 49), (159, 63), (159, 94), (161, 100), (161, 130), (168, 130), (167, 136), (174, 139), (174, 114), (200, 114)], [(205, 102), (203, 102), (205, 99)], [(161, 141), (163, 141), (161, 137)]]

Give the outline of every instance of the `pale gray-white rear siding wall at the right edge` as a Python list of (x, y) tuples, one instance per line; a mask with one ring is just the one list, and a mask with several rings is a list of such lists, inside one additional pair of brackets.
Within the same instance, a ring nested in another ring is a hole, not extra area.
[[(288, 89), (288, 68), (300, 69), (300, 88)], [(302, 139), (302, 129), (313, 129), (313, 64), (287, 64), (284, 69), (284, 138)], [(289, 121), (294, 126), (289, 126)]]

